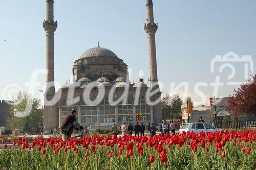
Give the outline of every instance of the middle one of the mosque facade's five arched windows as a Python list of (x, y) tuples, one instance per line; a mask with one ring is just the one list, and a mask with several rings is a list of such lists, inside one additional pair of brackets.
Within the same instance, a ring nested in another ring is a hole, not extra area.
[(99, 123), (102, 126), (113, 125), (116, 122), (115, 107), (109, 104), (109, 97), (105, 97), (99, 106)]

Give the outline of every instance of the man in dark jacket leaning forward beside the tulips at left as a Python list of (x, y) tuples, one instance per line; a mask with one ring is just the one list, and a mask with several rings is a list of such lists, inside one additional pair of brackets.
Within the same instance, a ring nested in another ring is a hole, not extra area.
[(83, 127), (76, 121), (76, 116), (77, 116), (76, 110), (72, 110), (71, 114), (68, 115), (65, 118), (64, 122), (62, 123), (59, 130), (62, 140), (68, 141), (68, 139), (71, 137), (73, 129), (83, 130)]

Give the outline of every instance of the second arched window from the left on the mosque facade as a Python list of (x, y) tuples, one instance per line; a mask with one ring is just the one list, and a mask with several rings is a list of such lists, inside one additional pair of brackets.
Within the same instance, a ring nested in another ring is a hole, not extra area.
[(81, 101), (81, 125), (82, 126), (95, 126), (97, 122), (97, 108), (92, 104), (94, 99), (85, 99)]

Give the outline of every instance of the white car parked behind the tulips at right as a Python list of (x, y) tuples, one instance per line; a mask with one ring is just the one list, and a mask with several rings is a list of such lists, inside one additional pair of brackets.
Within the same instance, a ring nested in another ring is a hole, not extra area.
[(216, 132), (222, 131), (221, 129), (211, 126), (209, 123), (187, 123), (183, 124), (180, 128), (180, 133), (182, 132)]

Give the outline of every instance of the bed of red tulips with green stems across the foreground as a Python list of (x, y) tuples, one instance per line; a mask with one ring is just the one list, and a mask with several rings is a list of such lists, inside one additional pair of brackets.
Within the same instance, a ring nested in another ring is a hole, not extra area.
[[(256, 131), (2, 141), (0, 169), (255, 169)], [(9, 146), (10, 147), (10, 146)]]

